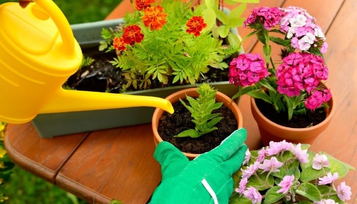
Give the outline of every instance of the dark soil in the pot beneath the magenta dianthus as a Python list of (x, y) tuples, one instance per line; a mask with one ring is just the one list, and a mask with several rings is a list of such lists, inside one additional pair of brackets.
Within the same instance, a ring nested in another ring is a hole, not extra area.
[(326, 113), (323, 109), (309, 111), (307, 115), (293, 115), (292, 119), (288, 121), (287, 113), (278, 113), (274, 110), (273, 106), (266, 103), (262, 99), (256, 99), (256, 104), (260, 112), (269, 120), (293, 128), (304, 128), (317, 125), (326, 118)]

